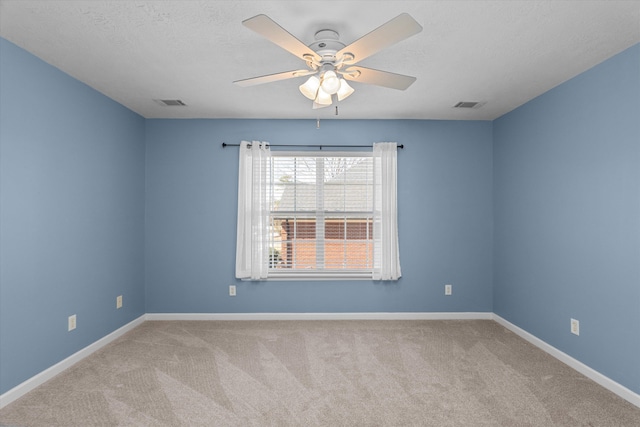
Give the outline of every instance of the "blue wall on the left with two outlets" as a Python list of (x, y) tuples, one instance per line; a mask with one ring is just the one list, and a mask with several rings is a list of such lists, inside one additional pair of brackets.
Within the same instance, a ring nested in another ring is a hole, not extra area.
[(0, 93), (3, 393), (144, 313), (144, 119), (3, 39)]

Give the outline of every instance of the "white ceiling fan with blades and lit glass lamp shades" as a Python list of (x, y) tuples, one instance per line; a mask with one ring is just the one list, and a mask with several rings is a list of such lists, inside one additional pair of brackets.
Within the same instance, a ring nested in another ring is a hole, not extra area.
[(409, 14), (402, 13), (387, 23), (346, 46), (333, 30), (320, 30), (315, 42), (302, 43), (266, 15), (257, 15), (242, 24), (303, 60), (307, 69), (285, 71), (244, 80), (238, 86), (254, 86), (295, 77), (311, 76), (300, 85), (300, 92), (313, 101), (313, 108), (328, 107), (333, 97), (342, 101), (354, 92), (347, 80), (405, 90), (415, 77), (356, 65), (378, 51), (422, 31), (420, 24)]

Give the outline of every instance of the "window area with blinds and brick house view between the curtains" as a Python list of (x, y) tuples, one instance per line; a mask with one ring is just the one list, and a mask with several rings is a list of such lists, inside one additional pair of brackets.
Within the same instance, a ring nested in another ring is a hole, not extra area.
[(370, 153), (272, 153), (269, 277), (371, 277)]

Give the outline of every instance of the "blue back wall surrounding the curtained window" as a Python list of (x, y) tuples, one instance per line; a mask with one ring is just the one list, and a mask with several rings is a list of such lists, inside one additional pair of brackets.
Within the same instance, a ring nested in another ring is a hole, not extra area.
[[(492, 311), (490, 122), (148, 120), (146, 311)], [(396, 141), (399, 282), (234, 277), (238, 149), (221, 143)], [(454, 295), (444, 296), (453, 284)], [(229, 285), (238, 295), (229, 297)]]

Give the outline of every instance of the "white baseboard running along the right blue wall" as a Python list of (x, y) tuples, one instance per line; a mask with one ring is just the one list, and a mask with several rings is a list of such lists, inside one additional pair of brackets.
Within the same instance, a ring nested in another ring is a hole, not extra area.
[(497, 323), (504, 326), (511, 332), (515, 333), (516, 335), (520, 336), (521, 338), (525, 339), (526, 341), (530, 342), (531, 344), (535, 345), (539, 349), (545, 351), (546, 353), (549, 353), (551, 356), (555, 357), (565, 365), (568, 365), (569, 367), (580, 372), (585, 377), (595, 381), (596, 383), (600, 384), (602, 387), (617, 394), (624, 400), (640, 408), (640, 394), (634, 393), (633, 391), (629, 390), (622, 384), (619, 384), (614, 380), (612, 380), (611, 378), (604, 376), (603, 374), (596, 371), (595, 369), (585, 365), (584, 363), (580, 362), (577, 359), (574, 359), (573, 357), (558, 350), (552, 345), (547, 344), (546, 342), (542, 341), (540, 338), (536, 337), (535, 335), (530, 334), (529, 332), (503, 319), (502, 317), (498, 316), (495, 313), (493, 314), (493, 320), (495, 320)]

